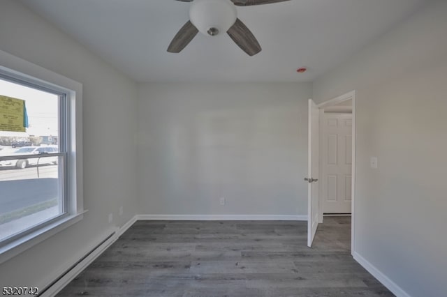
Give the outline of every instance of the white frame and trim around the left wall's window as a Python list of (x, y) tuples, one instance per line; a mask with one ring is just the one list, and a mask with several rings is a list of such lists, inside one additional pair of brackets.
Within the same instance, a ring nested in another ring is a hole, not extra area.
[(66, 215), (0, 247), (0, 264), (79, 222), (86, 212), (82, 187), (82, 84), (0, 51), (0, 74), (66, 94)]

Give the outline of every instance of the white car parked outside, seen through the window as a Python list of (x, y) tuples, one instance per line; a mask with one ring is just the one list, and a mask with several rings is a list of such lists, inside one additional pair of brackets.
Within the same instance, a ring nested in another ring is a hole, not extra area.
[[(56, 146), (24, 146), (17, 149), (9, 155), (43, 155), (57, 153)], [(17, 159), (17, 160), (3, 160), (0, 161), (0, 167), (16, 167), (19, 169), (27, 168), (30, 165), (50, 165), (57, 164), (57, 156), (43, 158), (29, 158), (29, 159)]]

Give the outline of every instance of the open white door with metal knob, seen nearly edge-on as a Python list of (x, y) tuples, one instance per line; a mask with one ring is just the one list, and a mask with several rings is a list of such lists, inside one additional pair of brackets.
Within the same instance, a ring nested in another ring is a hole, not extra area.
[(307, 168), (307, 246), (312, 246), (318, 227), (318, 142), (320, 109), (309, 99), (309, 156)]

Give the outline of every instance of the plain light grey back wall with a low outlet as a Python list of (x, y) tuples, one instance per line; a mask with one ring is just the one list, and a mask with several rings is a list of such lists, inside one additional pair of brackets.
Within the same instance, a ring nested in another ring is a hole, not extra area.
[(138, 211), (306, 215), (311, 92), (294, 83), (140, 85)]

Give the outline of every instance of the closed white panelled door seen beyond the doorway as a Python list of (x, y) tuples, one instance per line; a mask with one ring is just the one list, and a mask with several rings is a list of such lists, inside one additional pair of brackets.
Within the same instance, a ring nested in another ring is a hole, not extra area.
[(323, 213), (351, 213), (352, 114), (325, 112), (322, 118)]

